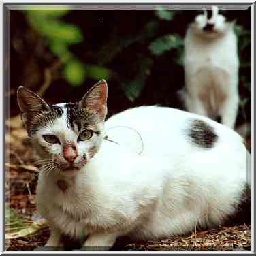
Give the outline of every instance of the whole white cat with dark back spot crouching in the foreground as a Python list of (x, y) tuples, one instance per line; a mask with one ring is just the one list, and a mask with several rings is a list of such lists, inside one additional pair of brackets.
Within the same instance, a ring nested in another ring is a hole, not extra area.
[[(120, 236), (166, 238), (236, 221), (242, 211), (249, 221), (249, 153), (235, 131), (157, 106), (116, 114), (104, 128), (106, 99), (104, 80), (80, 102), (54, 106), (18, 89), (22, 120), (42, 157), (37, 209), (51, 225), (46, 246), (83, 234), (87, 249), (110, 248)], [(140, 134), (142, 151), (121, 126)]]

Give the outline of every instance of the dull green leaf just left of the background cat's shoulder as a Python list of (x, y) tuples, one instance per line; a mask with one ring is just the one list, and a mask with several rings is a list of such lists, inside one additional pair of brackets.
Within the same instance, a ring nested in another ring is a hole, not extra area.
[(183, 40), (180, 35), (163, 35), (163, 37), (159, 37), (153, 41), (148, 48), (154, 55), (161, 55), (167, 50), (171, 50), (172, 48), (178, 48), (182, 46)]

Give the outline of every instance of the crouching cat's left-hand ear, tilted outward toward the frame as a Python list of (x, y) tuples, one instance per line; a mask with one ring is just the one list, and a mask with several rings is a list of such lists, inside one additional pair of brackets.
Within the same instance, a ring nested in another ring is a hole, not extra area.
[(17, 90), (17, 101), (20, 107), (22, 123), (28, 129), (29, 121), (36, 114), (50, 109), (48, 104), (41, 99), (37, 94), (29, 89), (19, 86)]

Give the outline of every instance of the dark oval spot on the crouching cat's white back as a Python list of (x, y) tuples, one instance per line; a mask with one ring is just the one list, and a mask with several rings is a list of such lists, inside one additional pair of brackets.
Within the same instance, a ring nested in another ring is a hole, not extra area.
[(191, 142), (202, 148), (212, 148), (218, 139), (213, 127), (202, 120), (192, 121), (188, 135)]

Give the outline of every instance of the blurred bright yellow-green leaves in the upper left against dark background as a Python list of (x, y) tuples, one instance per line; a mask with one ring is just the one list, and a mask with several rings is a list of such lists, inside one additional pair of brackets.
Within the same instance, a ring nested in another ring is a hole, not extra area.
[(72, 44), (83, 42), (83, 35), (76, 25), (59, 20), (68, 12), (68, 9), (25, 10), (31, 27), (48, 40), (50, 51), (63, 62), (63, 74), (71, 86), (80, 86), (87, 77), (94, 80), (110, 78), (109, 69), (86, 65), (69, 51), (69, 46)]

